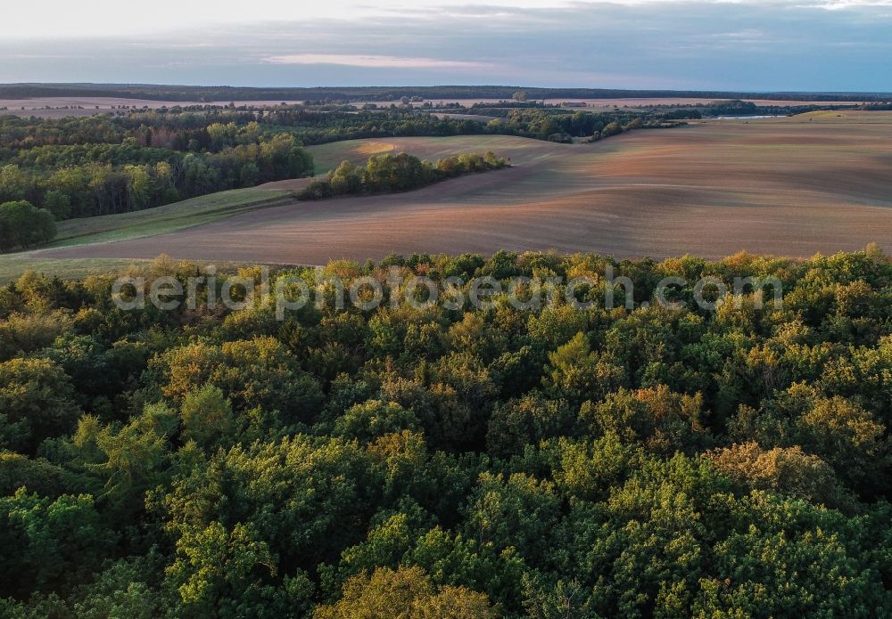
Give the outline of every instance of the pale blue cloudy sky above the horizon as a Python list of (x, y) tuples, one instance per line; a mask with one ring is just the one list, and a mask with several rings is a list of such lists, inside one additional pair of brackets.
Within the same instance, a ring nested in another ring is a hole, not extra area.
[(892, 0), (14, 2), (0, 82), (892, 91)]

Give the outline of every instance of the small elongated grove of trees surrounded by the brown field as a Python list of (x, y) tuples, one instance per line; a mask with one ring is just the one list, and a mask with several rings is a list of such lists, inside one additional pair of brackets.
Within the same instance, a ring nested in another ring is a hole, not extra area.
[(435, 164), (408, 153), (372, 155), (365, 166), (342, 161), (324, 179), (313, 181), (301, 191), (301, 200), (321, 200), (343, 195), (410, 191), (455, 176), (497, 170), (508, 165), (487, 151), (484, 155), (460, 153)]

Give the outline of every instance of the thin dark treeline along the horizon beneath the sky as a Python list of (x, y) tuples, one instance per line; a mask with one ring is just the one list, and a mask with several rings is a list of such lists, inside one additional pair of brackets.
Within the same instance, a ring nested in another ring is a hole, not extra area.
[(624, 99), (629, 97), (698, 97), (708, 99), (773, 99), (777, 101), (888, 101), (889, 93), (771, 93), (697, 90), (630, 90), (615, 88), (536, 88), (527, 86), (358, 86), (314, 88), (248, 88), (241, 86), (164, 86), (152, 84), (7, 84), (0, 98), (125, 97), (153, 101), (391, 101), (424, 99), (510, 99), (522, 91), (530, 99)]

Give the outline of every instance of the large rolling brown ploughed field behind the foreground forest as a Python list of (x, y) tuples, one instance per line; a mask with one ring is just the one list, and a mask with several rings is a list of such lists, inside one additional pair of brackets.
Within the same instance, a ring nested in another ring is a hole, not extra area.
[(437, 159), (492, 150), (513, 167), (420, 191), (290, 203), (149, 238), (39, 253), (321, 264), (500, 248), (803, 257), (876, 241), (892, 251), (890, 143), (892, 114), (855, 111), (703, 121), (593, 144), (506, 136), (331, 143), (311, 149), (320, 171), (385, 151)]

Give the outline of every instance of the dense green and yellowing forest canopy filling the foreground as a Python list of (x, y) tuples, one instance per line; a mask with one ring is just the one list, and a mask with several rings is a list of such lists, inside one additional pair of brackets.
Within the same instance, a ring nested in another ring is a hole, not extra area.
[[(260, 273), (134, 267), (205, 276), (169, 311), (121, 309), (114, 274), (0, 289), (0, 615), (888, 616), (877, 248), (394, 256), (327, 265), (281, 316), (209, 303)], [(419, 302), (417, 275), (458, 302)], [(523, 276), (591, 278), (593, 303), (475, 308), (460, 283)], [(701, 276), (782, 299), (702, 308)], [(334, 277), (384, 303), (337, 309)], [(683, 306), (652, 303), (665, 277)]]

